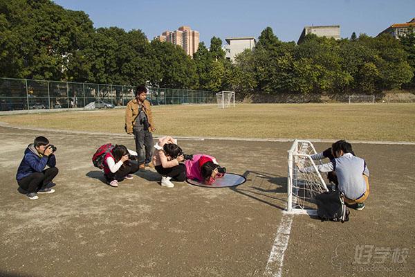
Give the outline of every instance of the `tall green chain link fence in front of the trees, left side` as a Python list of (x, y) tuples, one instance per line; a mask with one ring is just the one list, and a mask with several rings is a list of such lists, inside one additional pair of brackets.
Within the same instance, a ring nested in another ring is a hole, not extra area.
[[(95, 108), (125, 106), (134, 98), (133, 86), (0, 78), (0, 111), (26, 109)], [(212, 91), (149, 88), (152, 105), (212, 104)]]

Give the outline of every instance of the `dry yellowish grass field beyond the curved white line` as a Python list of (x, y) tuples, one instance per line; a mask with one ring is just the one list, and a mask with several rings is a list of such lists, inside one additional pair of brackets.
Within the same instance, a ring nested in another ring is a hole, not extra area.
[[(415, 141), (415, 104), (261, 104), (153, 107), (155, 134)], [(1, 116), (19, 126), (124, 133), (124, 109)]]

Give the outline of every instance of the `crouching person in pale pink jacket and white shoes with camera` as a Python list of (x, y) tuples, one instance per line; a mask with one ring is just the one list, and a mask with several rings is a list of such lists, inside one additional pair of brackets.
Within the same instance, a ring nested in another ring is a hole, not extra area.
[(161, 186), (173, 188), (172, 181), (185, 181), (186, 168), (181, 161), (184, 161), (183, 152), (176, 144), (176, 139), (171, 136), (163, 136), (154, 145), (153, 165), (156, 171), (162, 176)]

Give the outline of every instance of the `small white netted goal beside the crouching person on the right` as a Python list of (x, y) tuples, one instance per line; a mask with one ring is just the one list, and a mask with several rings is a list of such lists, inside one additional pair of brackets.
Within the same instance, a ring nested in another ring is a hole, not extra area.
[[(326, 183), (310, 157), (312, 154), (316, 152), (310, 141), (296, 139), (288, 150), (287, 213), (316, 215), (315, 195), (327, 191)], [(314, 172), (299, 171), (310, 166)]]

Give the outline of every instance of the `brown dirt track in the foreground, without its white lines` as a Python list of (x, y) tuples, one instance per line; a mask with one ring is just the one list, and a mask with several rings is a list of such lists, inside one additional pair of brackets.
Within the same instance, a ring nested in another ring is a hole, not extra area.
[[(38, 135), (57, 146), (59, 175), (56, 193), (30, 201), (15, 174)], [(118, 188), (104, 184), (93, 152), (107, 141), (133, 148), (132, 137), (0, 127), (0, 141), (0, 276), (264, 276), (284, 215), (291, 143), (179, 141), (248, 181), (169, 189), (151, 171)], [(414, 276), (415, 145), (353, 148), (371, 172), (367, 207), (344, 224), (293, 217), (282, 276)]]

